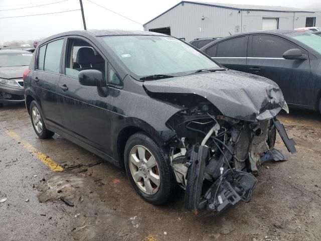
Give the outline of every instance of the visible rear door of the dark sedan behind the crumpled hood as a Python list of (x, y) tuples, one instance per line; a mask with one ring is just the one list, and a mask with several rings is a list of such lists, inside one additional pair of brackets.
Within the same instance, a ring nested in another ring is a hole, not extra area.
[(226, 68), (245, 72), (247, 43), (248, 36), (236, 37), (212, 45), (205, 53)]

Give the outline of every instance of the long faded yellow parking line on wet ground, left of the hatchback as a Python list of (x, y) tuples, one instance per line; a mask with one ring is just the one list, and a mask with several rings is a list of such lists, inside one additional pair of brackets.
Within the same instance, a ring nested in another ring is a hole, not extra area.
[(25, 148), (28, 149), (32, 154), (34, 154), (40, 161), (42, 161), (47, 167), (49, 167), (54, 172), (61, 172), (64, 169), (59, 166), (57, 163), (55, 163), (53, 160), (51, 160), (50, 157), (43, 154), (42, 152), (38, 151), (36, 148), (34, 148), (30, 143), (23, 140), (20, 136), (18, 136), (16, 133), (6, 130), (5, 131), (8, 136), (10, 136), (12, 139), (20, 142)]

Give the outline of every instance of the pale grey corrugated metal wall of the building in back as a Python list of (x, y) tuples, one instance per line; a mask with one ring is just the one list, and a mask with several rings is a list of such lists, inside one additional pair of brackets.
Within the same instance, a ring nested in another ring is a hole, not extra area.
[(248, 12), (184, 3), (146, 24), (144, 30), (171, 27), (172, 36), (191, 41), (196, 38), (225, 37), (230, 35), (229, 32), (241, 33), (241, 26), (242, 32), (262, 30), (262, 18), (279, 18), (279, 29), (301, 28), (305, 27), (306, 17), (316, 17), (316, 26), (321, 26), (320, 12)]

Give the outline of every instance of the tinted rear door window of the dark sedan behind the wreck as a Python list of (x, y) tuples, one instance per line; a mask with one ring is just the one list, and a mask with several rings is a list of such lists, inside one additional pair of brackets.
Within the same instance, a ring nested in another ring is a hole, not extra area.
[(229, 39), (217, 44), (217, 55), (211, 57), (246, 57), (247, 36)]

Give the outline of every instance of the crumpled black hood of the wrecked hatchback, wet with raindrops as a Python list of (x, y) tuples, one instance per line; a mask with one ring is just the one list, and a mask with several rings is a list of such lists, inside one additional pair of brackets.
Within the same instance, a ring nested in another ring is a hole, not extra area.
[(203, 96), (223, 115), (250, 122), (274, 117), (284, 104), (282, 91), (272, 80), (235, 70), (145, 81), (143, 86), (154, 93)]

